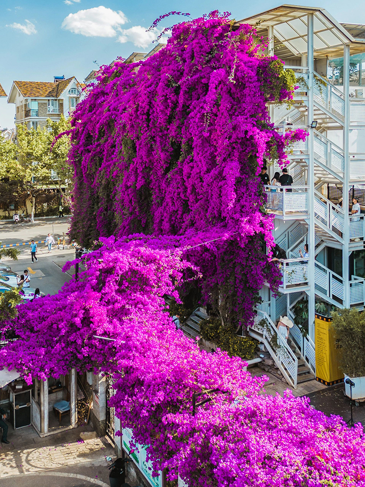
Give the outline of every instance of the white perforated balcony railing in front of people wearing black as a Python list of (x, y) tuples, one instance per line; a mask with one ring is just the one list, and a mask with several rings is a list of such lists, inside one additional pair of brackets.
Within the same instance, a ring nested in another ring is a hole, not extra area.
[(309, 186), (265, 186), (266, 210), (283, 216), (308, 213)]

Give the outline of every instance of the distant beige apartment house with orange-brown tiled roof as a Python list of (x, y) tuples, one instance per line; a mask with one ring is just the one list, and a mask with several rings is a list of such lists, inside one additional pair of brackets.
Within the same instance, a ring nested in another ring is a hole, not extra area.
[(69, 116), (82, 96), (84, 84), (73, 76), (55, 76), (54, 82), (13, 81), (8, 103), (15, 104), (15, 124), (28, 129), (45, 127), (48, 118), (59, 120)]

